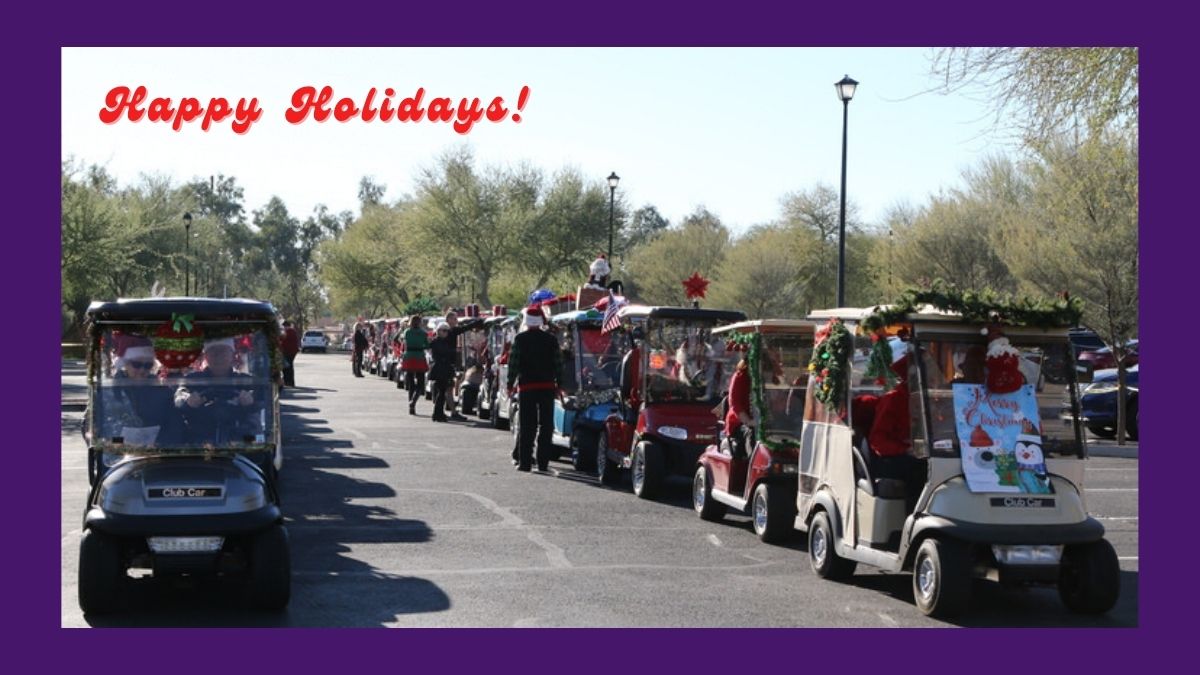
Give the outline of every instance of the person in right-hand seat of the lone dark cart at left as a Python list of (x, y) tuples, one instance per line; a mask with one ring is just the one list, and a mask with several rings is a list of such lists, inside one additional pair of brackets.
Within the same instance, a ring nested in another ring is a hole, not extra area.
[(234, 340), (204, 342), (204, 370), (190, 372), (175, 390), (175, 407), (193, 441), (227, 444), (253, 426), (251, 377), (233, 369)]

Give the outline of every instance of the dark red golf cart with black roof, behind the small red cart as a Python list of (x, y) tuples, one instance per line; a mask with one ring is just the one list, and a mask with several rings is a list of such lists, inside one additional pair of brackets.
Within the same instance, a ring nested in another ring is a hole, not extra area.
[(718, 325), (745, 321), (739, 311), (626, 305), (618, 311), (635, 346), (622, 362), (618, 410), (596, 443), (601, 484), (631, 470), (634, 494), (650, 498), (667, 476), (691, 477), (720, 432), (720, 404), (734, 365)]

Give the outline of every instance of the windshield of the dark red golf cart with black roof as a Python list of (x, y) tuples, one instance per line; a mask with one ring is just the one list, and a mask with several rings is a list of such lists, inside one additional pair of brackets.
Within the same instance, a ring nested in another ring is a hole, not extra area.
[(737, 354), (725, 350), (725, 340), (712, 335), (714, 322), (650, 319), (647, 322), (647, 402), (702, 402), (715, 405)]

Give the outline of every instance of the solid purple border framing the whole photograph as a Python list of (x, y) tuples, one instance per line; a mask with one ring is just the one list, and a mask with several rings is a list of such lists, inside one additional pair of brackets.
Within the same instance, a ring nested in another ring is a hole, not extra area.
[[(59, 157), (50, 156), (46, 148), (60, 144), (59, 119), (53, 110), (60, 109), (55, 103), (59, 102), (59, 48), (62, 46), (814, 46), (830, 44), (830, 41), (839, 38), (872, 46), (1076, 43), (1144, 47), (1141, 70), (1146, 96), (1142, 100), (1145, 133), (1141, 151), (1142, 185), (1147, 191), (1141, 196), (1141, 210), (1142, 222), (1151, 225), (1144, 229), (1141, 253), (1142, 261), (1152, 261), (1152, 264), (1144, 265), (1142, 275), (1142, 323), (1148, 338), (1142, 359), (1153, 363), (1165, 354), (1165, 335), (1159, 339), (1153, 336), (1165, 334), (1168, 321), (1176, 329), (1189, 328), (1178, 325), (1181, 319), (1187, 321), (1187, 315), (1180, 307), (1183, 298), (1178, 293), (1170, 293), (1168, 280), (1171, 271), (1188, 269), (1187, 264), (1192, 262), (1184, 259), (1188, 255), (1187, 246), (1175, 244), (1187, 237), (1189, 226), (1171, 227), (1175, 223), (1170, 220), (1175, 211), (1172, 202), (1182, 199), (1172, 201), (1170, 197), (1188, 193), (1183, 185), (1184, 177), (1195, 174), (1193, 167), (1182, 166), (1184, 160), (1193, 157), (1186, 157), (1184, 144), (1177, 143), (1188, 138), (1184, 124), (1190, 120), (1184, 120), (1183, 115), (1188, 114), (1189, 106), (1181, 98), (1190, 89), (1183, 68), (1192, 60), (1188, 56), (1194, 54), (1189, 54), (1184, 47), (1188, 41), (1182, 35), (1184, 28), (1181, 22), (1160, 22), (1148, 13), (1134, 14), (1128, 4), (1099, 0), (1080, 10), (1044, 1), (1001, 6), (937, 2), (930, 10), (925, 10), (930, 4), (923, 5), (925, 16), (920, 16), (912, 4), (893, 4), (886, 10), (868, 8), (863, 4), (797, 4), (796, 8), (785, 14), (778, 10), (760, 10), (754, 2), (722, 4), (713, 10), (704, 10), (698, 4), (668, 10), (646, 5), (623, 8), (612, 2), (569, 6), (544, 0), (522, 2), (520, 6), (492, 5), (484, 10), (467, 10), (455, 4), (444, 5), (445, 10), (440, 10), (425, 2), (404, 2), (391, 5), (396, 7), (391, 11), (368, 10), (362, 4), (353, 5), (353, 13), (326, 16), (329, 10), (320, 10), (319, 22), (311, 20), (317, 16), (316, 10), (308, 12), (296, 5), (289, 6), (290, 13), (276, 7), (245, 4), (223, 8), (186, 4), (133, 5), (139, 6), (137, 18), (133, 19), (104, 13), (112, 7), (84, 10), (95, 12), (96, 16), (73, 10), (64, 12), (53, 7), (26, 7), (26, 13), (42, 16), (23, 20), (26, 29), (20, 34), (22, 43), (16, 44), (11, 52), (20, 58), (10, 56), (12, 66), (8, 73), (13, 84), (10, 91), (14, 94), (14, 98), (8, 104), (13, 106), (11, 109), (19, 112), (6, 115), (6, 120), (17, 144), (11, 157), (20, 161), (25, 171), (17, 172), (17, 175), (8, 179), (12, 189), (10, 195), (24, 197), (12, 201), (16, 213), (8, 215), (8, 222), (10, 232), (20, 228), (28, 233), (29, 244), (24, 243), (26, 237), (10, 235), (10, 241), (16, 245), (11, 249), (13, 252), (10, 253), (8, 264), (4, 265), (4, 277), (7, 282), (5, 287), (14, 294), (24, 289), (32, 291), (29, 299), (20, 295), (13, 325), (36, 325), (36, 334), (50, 333), (43, 327), (59, 323), (55, 309), (59, 304), (59, 277), (54, 273), (58, 262), (58, 227), (53, 221), (53, 214), (59, 209), (59, 193), (54, 190)], [(130, 4), (122, 8), (125, 6)], [(524, 16), (515, 14), (516, 7)], [(738, 13), (731, 16), (731, 7), (736, 7)], [(846, 22), (853, 22), (853, 28), (838, 28)], [(1156, 25), (1159, 23), (1163, 25)], [(1180, 35), (1172, 36), (1172, 32)], [(836, 74), (832, 73), (830, 77)], [(1172, 78), (1172, 74), (1178, 77)], [(52, 113), (46, 114), (47, 110)], [(1172, 171), (1174, 165), (1181, 165), (1180, 171)], [(1181, 285), (1181, 288), (1189, 286), (1192, 285)], [(1175, 306), (1168, 307), (1168, 304)], [(1154, 561), (1160, 557), (1158, 554), (1176, 552), (1176, 546), (1166, 542), (1190, 540), (1186, 530), (1162, 525), (1156, 516), (1178, 518), (1176, 514), (1187, 513), (1182, 510), (1184, 504), (1170, 502), (1174, 495), (1186, 494), (1188, 489), (1180, 490), (1180, 485), (1170, 483), (1166, 471), (1176, 476), (1195, 476), (1195, 472), (1184, 468), (1184, 462), (1194, 466), (1196, 454), (1196, 449), (1188, 442), (1190, 434), (1182, 435), (1184, 443), (1169, 443), (1166, 432), (1156, 429), (1154, 423), (1189, 419), (1194, 413), (1183, 410), (1182, 396), (1169, 396), (1168, 390), (1156, 389), (1152, 384), (1147, 399), (1151, 405), (1142, 406), (1151, 420), (1142, 425), (1146, 429), (1142, 444), (1168, 448), (1165, 452), (1171, 452), (1171, 465), (1168, 468), (1163, 462), (1146, 461), (1141, 468), (1142, 485), (1146, 488), (1141, 492), (1141, 513), (1146, 518), (1141, 519), (1139, 555), (1145, 558), (1140, 561), (1140, 569), (1147, 572), (1140, 574), (1141, 628), (1106, 633), (1103, 638), (1090, 629), (1021, 631), (1019, 635), (1003, 637), (1001, 646), (996, 643), (998, 635), (984, 631), (872, 632), (870, 635), (833, 631), (756, 631), (754, 635), (742, 632), (728, 634), (737, 643), (727, 643), (727, 649), (706, 650), (702, 645), (708, 641), (710, 633), (695, 629), (622, 631), (606, 637), (578, 631), (452, 631), (422, 632), (414, 637), (406, 633), (310, 629), (302, 638), (290, 633), (263, 635), (250, 631), (223, 631), (218, 640), (205, 643), (204, 652), (200, 652), (197, 651), (197, 638), (212, 635), (198, 635), (192, 631), (155, 631), (154, 634), (149, 634), (149, 631), (122, 631), (97, 638), (92, 632), (62, 631), (58, 627), (59, 604), (54, 602), (59, 597), (56, 589), (60, 578), (59, 545), (53, 540), (60, 531), (59, 501), (47, 498), (59, 494), (59, 462), (56, 453), (36, 450), (55, 446), (50, 411), (59, 402), (55, 398), (58, 388), (47, 374), (56, 368), (58, 348), (53, 335), (32, 341), (32, 345), (34, 352), (25, 352), (31, 358), (14, 359), (16, 364), (8, 364), (10, 368), (16, 368), (17, 377), (23, 383), (23, 399), (31, 404), (19, 408), (24, 419), (42, 422), (14, 425), (18, 430), (17, 438), (8, 444), (10, 452), (19, 453), (16, 458), (20, 462), (11, 464), (19, 471), (11, 473), (16, 480), (10, 480), (10, 503), (30, 504), (31, 508), (20, 512), (32, 516), (14, 524), (17, 532), (14, 537), (11, 536), (6, 549), (13, 551), (14, 542), (22, 542), (22, 552), (31, 554), (32, 557), (10, 557), (14, 565), (19, 565), (18, 569), (12, 571), (13, 577), (10, 577), (10, 598), (16, 598), (17, 602), (6, 603), (5, 615), (10, 622), (19, 625), (20, 632), (20, 638), (10, 633), (14, 639), (7, 641), (20, 644), (24, 646), (22, 651), (30, 656), (49, 657), (46, 662), (53, 663), (55, 669), (60, 664), (94, 669), (104, 663), (125, 663), (122, 670), (150, 667), (169, 667), (173, 671), (228, 668), (227, 658), (210, 661), (202, 656), (217, 650), (238, 655), (235, 658), (241, 659), (238, 670), (245, 670), (252, 663), (262, 663), (280, 669), (299, 667), (301, 671), (318, 668), (330, 671), (361, 668), (365, 665), (364, 659), (380, 665), (395, 664), (397, 668), (445, 668), (460, 661), (493, 665), (498, 664), (498, 656), (506, 661), (504, 657), (508, 655), (521, 658), (523, 665), (539, 670), (578, 670), (581, 665), (584, 670), (612, 670), (640, 662), (647, 667), (660, 665), (671, 670), (702, 663), (716, 668), (748, 668), (755, 663), (761, 664), (762, 659), (788, 670), (820, 665), (850, 665), (854, 670), (900, 665), (902, 670), (907, 670), (936, 667), (935, 664), (967, 668), (971, 671), (1012, 671), (1031, 667), (1067, 667), (1079, 671), (1080, 665), (1102, 664), (1103, 670), (1116, 670), (1122, 665), (1150, 663), (1147, 656), (1142, 655), (1153, 653), (1151, 650), (1156, 646), (1163, 647), (1165, 652), (1176, 651), (1170, 646), (1186, 643), (1172, 640), (1169, 631), (1194, 621), (1187, 615), (1177, 620), (1171, 616), (1189, 611), (1186, 607), (1172, 608), (1170, 597), (1177, 592), (1172, 589), (1190, 586), (1187, 561), (1171, 565), (1174, 574), (1170, 577), (1166, 573), (1153, 573), (1157, 568)], [(1151, 369), (1151, 383), (1156, 378), (1154, 372)], [(28, 452), (24, 448), (35, 450)], [(28, 468), (25, 462), (29, 464)], [(22, 581), (18, 583), (17, 579)], [(419, 645), (416, 640), (420, 640)], [(936, 651), (928, 649), (934, 640), (937, 640), (940, 647)], [(866, 653), (862, 651), (865, 644), (871, 645)], [(94, 645), (96, 649), (78, 649), (85, 645)], [(745, 652), (749, 652), (746, 656), (754, 655), (750, 656), (750, 662), (743, 656)], [(872, 658), (875, 655), (878, 657)], [(1010, 661), (1003, 655), (1010, 655)], [(10, 661), (24, 662), (25, 658)], [(984, 665), (982, 669), (978, 667), (980, 664)]]

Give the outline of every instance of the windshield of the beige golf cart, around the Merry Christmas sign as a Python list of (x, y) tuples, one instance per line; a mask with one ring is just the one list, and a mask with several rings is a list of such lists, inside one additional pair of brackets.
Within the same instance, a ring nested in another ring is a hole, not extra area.
[[(1018, 369), (1022, 380), (1022, 387), (1008, 394), (1014, 401), (1009, 405), (1019, 406), (1013, 416), (1022, 423), (1028, 422), (1027, 432), (1040, 436), (1040, 450), (1045, 456), (1081, 456), (1079, 416), (1072, 412), (1079, 404), (1069, 342), (1018, 335), (1009, 336), (1009, 342), (1019, 353)], [(964, 434), (973, 429), (970, 424), (982, 422), (986, 430), (989, 420), (1002, 417), (992, 401), (996, 396), (985, 383), (986, 341), (982, 335), (930, 335), (918, 345), (928, 401), (930, 455), (958, 456)], [(917, 399), (919, 393), (912, 395)], [(976, 401), (978, 405), (973, 406)], [(967, 424), (965, 411), (979, 412)], [(919, 420), (914, 417), (913, 422), (916, 430)]]

